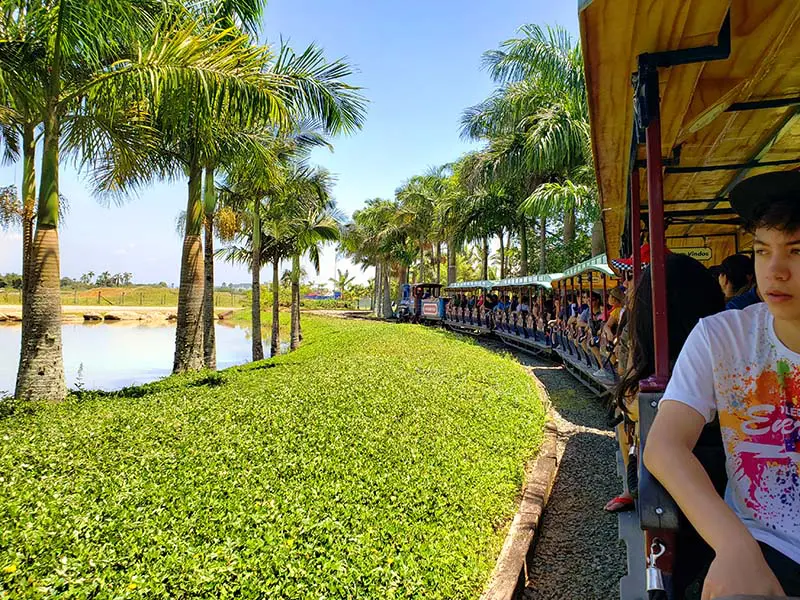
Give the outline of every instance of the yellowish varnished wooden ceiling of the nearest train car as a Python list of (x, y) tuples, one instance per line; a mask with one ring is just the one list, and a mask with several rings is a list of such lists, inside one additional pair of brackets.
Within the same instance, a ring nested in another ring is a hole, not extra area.
[[(620, 256), (626, 225), (631, 75), (638, 56), (713, 46), (728, 11), (728, 59), (659, 69), (661, 153), (665, 159), (679, 157), (664, 170), (667, 245), (707, 256), (706, 264), (717, 264), (749, 243), (730, 211), (730, 188), (750, 175), (800, 166), (800, 2), (581, 3), (592, 149), (610, 258)], [(643, 146), (635, 158), (645, 159)], [(640, 181), (646, 224), (644, 169)]]

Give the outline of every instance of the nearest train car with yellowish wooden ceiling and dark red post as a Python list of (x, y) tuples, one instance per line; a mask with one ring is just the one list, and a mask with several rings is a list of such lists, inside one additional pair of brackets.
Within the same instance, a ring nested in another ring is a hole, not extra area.
[[(579, 22), (606, 250), (631, 257), (637, 282), (649, 242), (655, 370), (640, 383), (644, 448), (670, 377), (666, 253), (710, 266), (750, 250), (731, 190), (800, 166), (800, 2), (580, 0)], [(705, 464), (712, 480), (725, 477), (724, 460)], [(621, 596), (682, 598), (695, 542), (641, 466), (638, 496), (644, 537), (626, 540)]]

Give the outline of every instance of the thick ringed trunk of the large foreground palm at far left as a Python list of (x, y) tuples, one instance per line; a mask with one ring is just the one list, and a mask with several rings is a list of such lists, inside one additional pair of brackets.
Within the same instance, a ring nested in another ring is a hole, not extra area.
[[(60, 21), (59, 21), (60, 23)], [(57, 47), (60, 44), (56, 35)], [(58, 144), (60, 123), (56, 107), (60, 67), (53, 67), (44, 119), (42, 178), (36, 232), (29, 256), (29, 297), (24, 343), (20, 350), (15, 396), (24, 400), (63, 400), (64, 357), (61, 345), (61, 276), (58, 244)], [(55, 93), (53, 93), (55, 92)]]

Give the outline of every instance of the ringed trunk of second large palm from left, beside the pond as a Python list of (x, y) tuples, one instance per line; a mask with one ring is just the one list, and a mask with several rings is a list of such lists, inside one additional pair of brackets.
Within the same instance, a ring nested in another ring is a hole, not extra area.
[(181, 286), (178, 290), (178, 324), (175, 331), (173, 373), (199, 371), (203, 360), (204, 260), (200, 230), (203, 225), (201, 182), (203, 170), (197, 161), (189, 166), (189, 199), (186, 205), (186, 233), (181, 257)]

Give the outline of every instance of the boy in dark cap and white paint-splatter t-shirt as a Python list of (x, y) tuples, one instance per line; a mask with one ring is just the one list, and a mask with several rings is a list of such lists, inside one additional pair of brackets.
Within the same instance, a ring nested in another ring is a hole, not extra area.
[[(701, 319), (647, 438), (644, 463), (716, 553), (703, 599), (800, 595), (800, 172), (731, 193), (754, 234), (764, 302)], [(719, 416), (723, 501), (692, 449)]]

